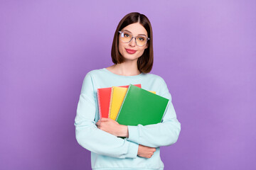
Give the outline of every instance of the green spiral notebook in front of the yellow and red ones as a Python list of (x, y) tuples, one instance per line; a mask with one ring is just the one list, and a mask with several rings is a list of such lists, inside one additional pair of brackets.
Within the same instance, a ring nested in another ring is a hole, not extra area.
[(129, 84), (116, 121), (120, 125), (161, 123), (169, 99)]

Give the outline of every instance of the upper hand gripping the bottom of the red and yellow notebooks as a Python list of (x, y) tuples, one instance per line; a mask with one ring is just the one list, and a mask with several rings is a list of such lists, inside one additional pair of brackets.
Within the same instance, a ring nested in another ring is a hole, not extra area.
[(126, 125), (119, 125), (117, 121), (111, 118), (101, 118), (96, 123), (97, 128), (104, 130), (117, 137), (128, 137), (128, 128)]

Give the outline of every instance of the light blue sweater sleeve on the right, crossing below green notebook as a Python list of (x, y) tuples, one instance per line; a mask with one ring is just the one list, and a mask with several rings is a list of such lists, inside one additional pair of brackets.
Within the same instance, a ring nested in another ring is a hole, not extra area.
[(173, 145), (178, 140), (181, 123), (176, 118), (176, 112), (171, 102), (171, 94), (164, 79), (161, 78), (159, 96), (169, 98), (169, 103), (161, 123), (154, 125), (128, 125), (129, 137), (127, 140), (147, 147), (161, 147)]

